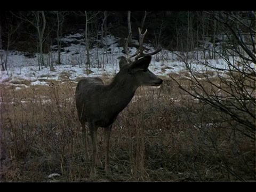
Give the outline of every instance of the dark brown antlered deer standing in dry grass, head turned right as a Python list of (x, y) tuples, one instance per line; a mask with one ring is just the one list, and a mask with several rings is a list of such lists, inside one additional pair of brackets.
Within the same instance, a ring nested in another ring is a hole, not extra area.
[[(109, 140), (110, 133), (117, 116), (130, 103), (135, 91), (140, 86), (159, 86), (163, 80), (153, 74), (149, 69), (151, 55), (161, 51), (160, 47), (151, 53), (144, 53), (143, 38), (147, 30), (141, 34), (139, 28), (139, 49), (130, 55), (125, 44), (126, 57), (119, 59), (119, 72), (111, 83), (104, 84), (99, 77), (85, 77), (80, 79), (76, 86), (75, 103), (79, 122), (82, 125), (82, 142), (85, 150), (85, 161), (89, 160), (87, 149), (86, 123), (88, 124), (92, 141), (92, 163), (90, 178), (96, 174), (95, 166), (103, 167), (99, 157), (97, 131), (104, 129), (105, 137), (105, 172), (110, 174), (109, 166)], [(130, 36), (131, 34), (129, 34)], [(132, 61), (131, 58), (134, 58)]]

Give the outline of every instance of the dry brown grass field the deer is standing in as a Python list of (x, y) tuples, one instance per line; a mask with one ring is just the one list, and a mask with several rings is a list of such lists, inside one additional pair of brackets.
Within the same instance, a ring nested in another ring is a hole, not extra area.
[[(189, 86), (187, 78), (178, 78)], [(104, 77), (103, 81), (111, 80)], [(71, 81), (20, 90), (1, 85), (1, 181), (50, 181), (51, 173), (61, 175), (55, 178), (59, 182), (87, 181), (90, 162), (83, 161), (75, 86)], [(219, 120), (220, 114), (192, 99), (173, 81), (165, 79), (161, 89), (141, 87), (113, 126), (113, 174), (109, 177), (98, 169), (95, 181), (237, 181), (220, 166), (223, 163), (253, 180), (251, 141), (236, 133), (243, 155), (235, 154), (238, 144), (226, 137), (229, 129), (222, 129), (227, 124), (209, 125), (209, 117)], [(103, 129), (98, 138), (104, 164)]]

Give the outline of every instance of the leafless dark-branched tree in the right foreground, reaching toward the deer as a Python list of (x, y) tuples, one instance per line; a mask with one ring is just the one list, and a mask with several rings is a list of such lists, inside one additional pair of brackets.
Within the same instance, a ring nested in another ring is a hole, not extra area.
[[(209, 17), (214, 19), (222, 32), (225, 33), (229, 42), (236, 41), (238, 46), (230, 48), (223, 47), (228, 55), (222, 55), (215, 51), (226, 63), (226, 66), (216, 67), (210, 62), (198, 61), (204, 65), (206, 71), (203, 73), (189, 67), (191, 78), (189, 86), (180, 84), (177, 79), (172, 78), (181, 90), (185, 91), (192, 98), (199, 100), (203, 107), (210, 107), (213, 117), (207, 117), (207, 121), (213, 122), (219, 127), (228, 142), (232, 143), (231, 151), (223, 151), (214, 135), (209, 134), (210, 130), (205, 130), (205, 123), (198, 125), (193, 122), (193, 117), (188, 117), (204, 137), (209, 139), (208, 147), (218, 154), (218, 163), (221, 169), (241, 181), (246, 181), (241, 171), (246, 171), (247, 175), (253, 177), (255, 174), (250, 162), (255, 161), (255, 150), (252, 147), (255, 143), (255, 16), (246, 17), (234, 14), (233, 12), (207, 12)], [(247, 35), (247, 42), (245, 36)], [(252, 38), (251, 38), (252, 37)], [(254, 38), (253, 38), (254, 37)], [(248, 41), (250, 40), (250, 41)], [(230, 57), (231, 56), (231, 57)], [(233, 59), (231, 59), (233, 58)], [(217, 74), (210, 77), (210, 74)], [(200, 78), (199, 78), (200, 77)], [(203, 79), (203, 80), (202, 80)], [(206, 120), (205, 120), (206, 121)], [(230, 141), (231, 140), (231, 141)], [(205, 142), (204, 142), (205, 143)], [(245, 146), (247, 148), (243, 148)], [(250, 147), (251, 146), (251, 147)], [(243, 164), (242, 167), (235, 168), (225, 158), (224, 153), (233, 154), (233, 158)], [(249, 155), (251, 154), (251, 155)]]

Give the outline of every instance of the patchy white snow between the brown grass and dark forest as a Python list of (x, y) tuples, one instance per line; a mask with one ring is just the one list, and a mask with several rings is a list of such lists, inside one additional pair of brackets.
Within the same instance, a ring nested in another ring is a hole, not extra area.
[[(44, 61), (47, 63), (47, 67), (38, 70), (38, 60), (39, 54), (36, 54), (34, 58), (25, 57), (22, 52), (9, 51), (9, 56), (7, 58), (7, 71), (1, 71), (0, 83), (11, 83), (15, 79), (27, 79), (31, 81), (31, 85), (36, 84), (46, 84), (44, 79), (55, 79), (61, 80), (63, 75), (67, 79), (75, 80), (77, 77), (86, 76), (114, 76), (119, 71), (118, 62), (121, 55), (125, 55), (123, 47), (118, 46), (118, 38), (112, 35), (108, 35), (103, 39), (103, 44), (106, 45), (104, 48), (97, 48), (95, 46), (90, 50), (90, 60), (91, 60), (91, 73), (88, 73), (88, 66), (85, 65), (86, 50), (84, 46), (83, 35), (76, 33), (73, 35), (67, 35), (63, 37), (62, 42), (67, 46), (63, 47), (64, 51), (61, 52), (61, 65), (57, 65), (56, 61), (58, 58), (57, 51), (51, 51), (49, 54), (44, 54)], [(100, 42), (100, 41), (98, 41)], [(75, 43), (75, 44), (73, 44)], [(138, 41), (133, 39), (133, 44), (138, 45)], [(150, 44), (144, 44), (146, 49), (154, 51), (155, 48)], [(51, 47), (53, 50), (57, 48), (57, 45)], [(130, 54), (135, 53), (135, 47), (130, 47)], [(6, 52), (0, 50), (2, 58), (5, 58)], [(203, 52), (194, 51), (188, 53), (191, 57), (199, 58), (202, 62)], [(179, 74), (182, 71), (186, 71), (186, 65), (182, 62), (178, 55), (179, 52), (170, 52), (167, 50), (162, 50), (158, 55), (154, 55), (150, 63), (149, 69), (153, 71), (156, 75), (169, 77), (169, 74), (176, 73)], [(183, 53), (185, 55), (185, 53)], [(186, 56), (186, 55), (185, 55)], [(227, 63), (223, 59), (207, 60), (212, 66), (227, 69)], [(50, 70), (50, 63), (54, 66), (54, 71)], [(190, 67), (196, 71), (204, 71), (205, 65), (200, 64), (196, 60), (190, 59)], [(100, 65), (100, 67), (99, 67)], [(104, 70), (102, 66), (104, 65)], [(252, 63), (252, 67), (254, 67)], [(211, 68), (208, 68), (211, 70)]]

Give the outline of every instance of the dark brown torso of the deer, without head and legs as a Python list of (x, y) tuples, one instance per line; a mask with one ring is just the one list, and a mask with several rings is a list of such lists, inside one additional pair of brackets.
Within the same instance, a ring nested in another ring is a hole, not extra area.
[[(127, 83), (129, 79), (119, 81), (118, 74), (109, 85), (93, 78), (81, 79), (76, 88), (76, 106), (81, 121), (94, 121), (100, 127), (114, 123), (117, 115), (129, 104), (138, 88)], [(125, 83), (126, 81), (126, 83)], [(82, 105), (81, 105), (82, 104)]]

